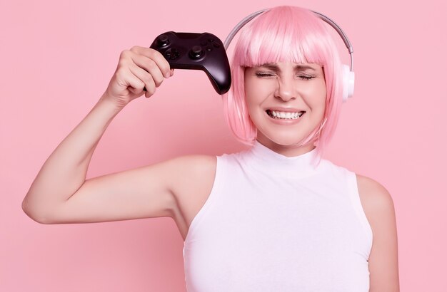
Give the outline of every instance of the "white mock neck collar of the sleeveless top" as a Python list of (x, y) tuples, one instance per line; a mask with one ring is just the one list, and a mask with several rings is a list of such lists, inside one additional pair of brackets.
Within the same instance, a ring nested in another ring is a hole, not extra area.
[(251, 156), (251, 166), (268, 175), (280, 177), (308, 177), (318, 168), (316, 148), (301, 155), (287, 157), (256, 141), (248, 150)]

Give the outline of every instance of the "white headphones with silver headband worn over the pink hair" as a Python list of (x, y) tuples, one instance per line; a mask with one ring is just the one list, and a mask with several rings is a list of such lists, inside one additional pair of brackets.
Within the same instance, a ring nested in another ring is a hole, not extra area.
[[(256, 16), (258, 16), (259, 14), (263, 13), (264, 11), (268, 11), (269, 9), (263, 9), (260, 11), (257, 11), (253, 14), (250, 14), (249, 16), (246, 16), (245, 19), (242, 19), (231, 31), (230, 34), (228, 34), (228, 36), (226, 37), (226, 40), (224, 42), (224, 47), (225, 50), (228, 49), (228, 46), (230, 45), (231, 40), (234, 38), (234, 36), (236, 35), (236, 33), (243, 27), (245, 26), (249, 21), (251, 21), (251, 19), (254, 19)], [(353, 71), (353, 48), (351, 46), (351, 43), (348, 40), (348, 36), (346, 36), (346, 34), (343, 32), (343, 30), (340, 28), (340, 26), (338, 26), (334, 21), (332, 21), (331, 19), (329, 19), (327, 16), (318, 13), (316, 11), (312, 11), (314, 14), (316, 14), (316, 16), (318, 16), (320, 19), (322, 19), (323, 21), (325, 21), (327, 24), (329, 24), (330, 26), (332, 26), (338, 33), (338, 35), (341, 36), (341, 38), (343, 38), (343, 42), (346, 45), (346, 48), (348, 48), (349, 51), (349, 56), (351, 57), (351, 66), (348, 66), (346, 64), (343, 64), (343, 103), (346, 102), (346, 100), (348, 100), (348, 98), (352, 98), (352, 95), (354, 93), (354, 79), (355, 79), (355, 75), (354, 75), (354, 71)]]

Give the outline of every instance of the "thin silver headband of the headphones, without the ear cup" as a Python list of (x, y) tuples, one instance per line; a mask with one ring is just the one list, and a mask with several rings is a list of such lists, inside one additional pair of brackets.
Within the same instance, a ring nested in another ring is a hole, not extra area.
[[(224, 47), (225, 50), (228, 48), (228, 46), (230, 45), (230, 42), (233, 40), (234, 36), (236, 36), (236, 33), (238, 33), (239, 30), (241, 30), (241, 28), (243, 26), (245, 26), (249, 21), (251, 21), (251, 19), (254, 19), (256, 16), (258, 16), (259, 14), (262, 14), (264, 11), (268, 11), (269, 9), (262, 9), (260, 11), (256, 11), (253, 14), (250, 14), (248, 16), (246, 16), (245, 19), (242, 19), (234, 28), (233, 30), (230, 32), (230, 34), (228, 34), (228, 36), (226, 37), (225, 41), (224, 41)], [(330, 26), (332, 26), (338, 33), (339, 36), (341, 36), (341, 38), (343, 39), (343, 42), (345, 43), (346, 48), (348, 48), (349, 51), (349, 56), (351, 57), (351, 67), (350, 67), (350, 71), (353, 72), (353, 48), (351, 46), (351, 42), (348, 39), (348, 36), (346, 36), (346, 34), (344, 33), (343, 29), (341, 29), (340, 26), (338, 26), (338, 24), (336, 24), (332, 19), (329, 19), (328, 16), (325, 16), (324, 14), (321, 14), (319, 12), (316, 11), (312, 11), (314, 14), (316, 14), (316, 16), (318, 16), (320, 19), (322, 19), (323, 21), (325, 21), (327, 24), (329, 24)]]

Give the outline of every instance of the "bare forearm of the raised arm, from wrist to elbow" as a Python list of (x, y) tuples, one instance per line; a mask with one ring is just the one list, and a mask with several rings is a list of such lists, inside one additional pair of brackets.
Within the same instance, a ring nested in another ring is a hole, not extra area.
[(41, 167), (22, 203), (26, 214), (33, 219), (45, 217), (84, 184), (96, 145), (120, 110), (101, 97)]

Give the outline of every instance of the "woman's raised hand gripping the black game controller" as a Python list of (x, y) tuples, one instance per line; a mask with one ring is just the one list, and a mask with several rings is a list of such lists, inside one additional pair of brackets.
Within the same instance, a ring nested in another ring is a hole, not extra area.
[(121, 52), (116, 71), (102, 98), (124, 108), (143, 94), (146, 98), (154, 95), (164, 78), (173, 74), (174, 69), (170, 69), (168, 61), (159, 51), (134, 46)]

